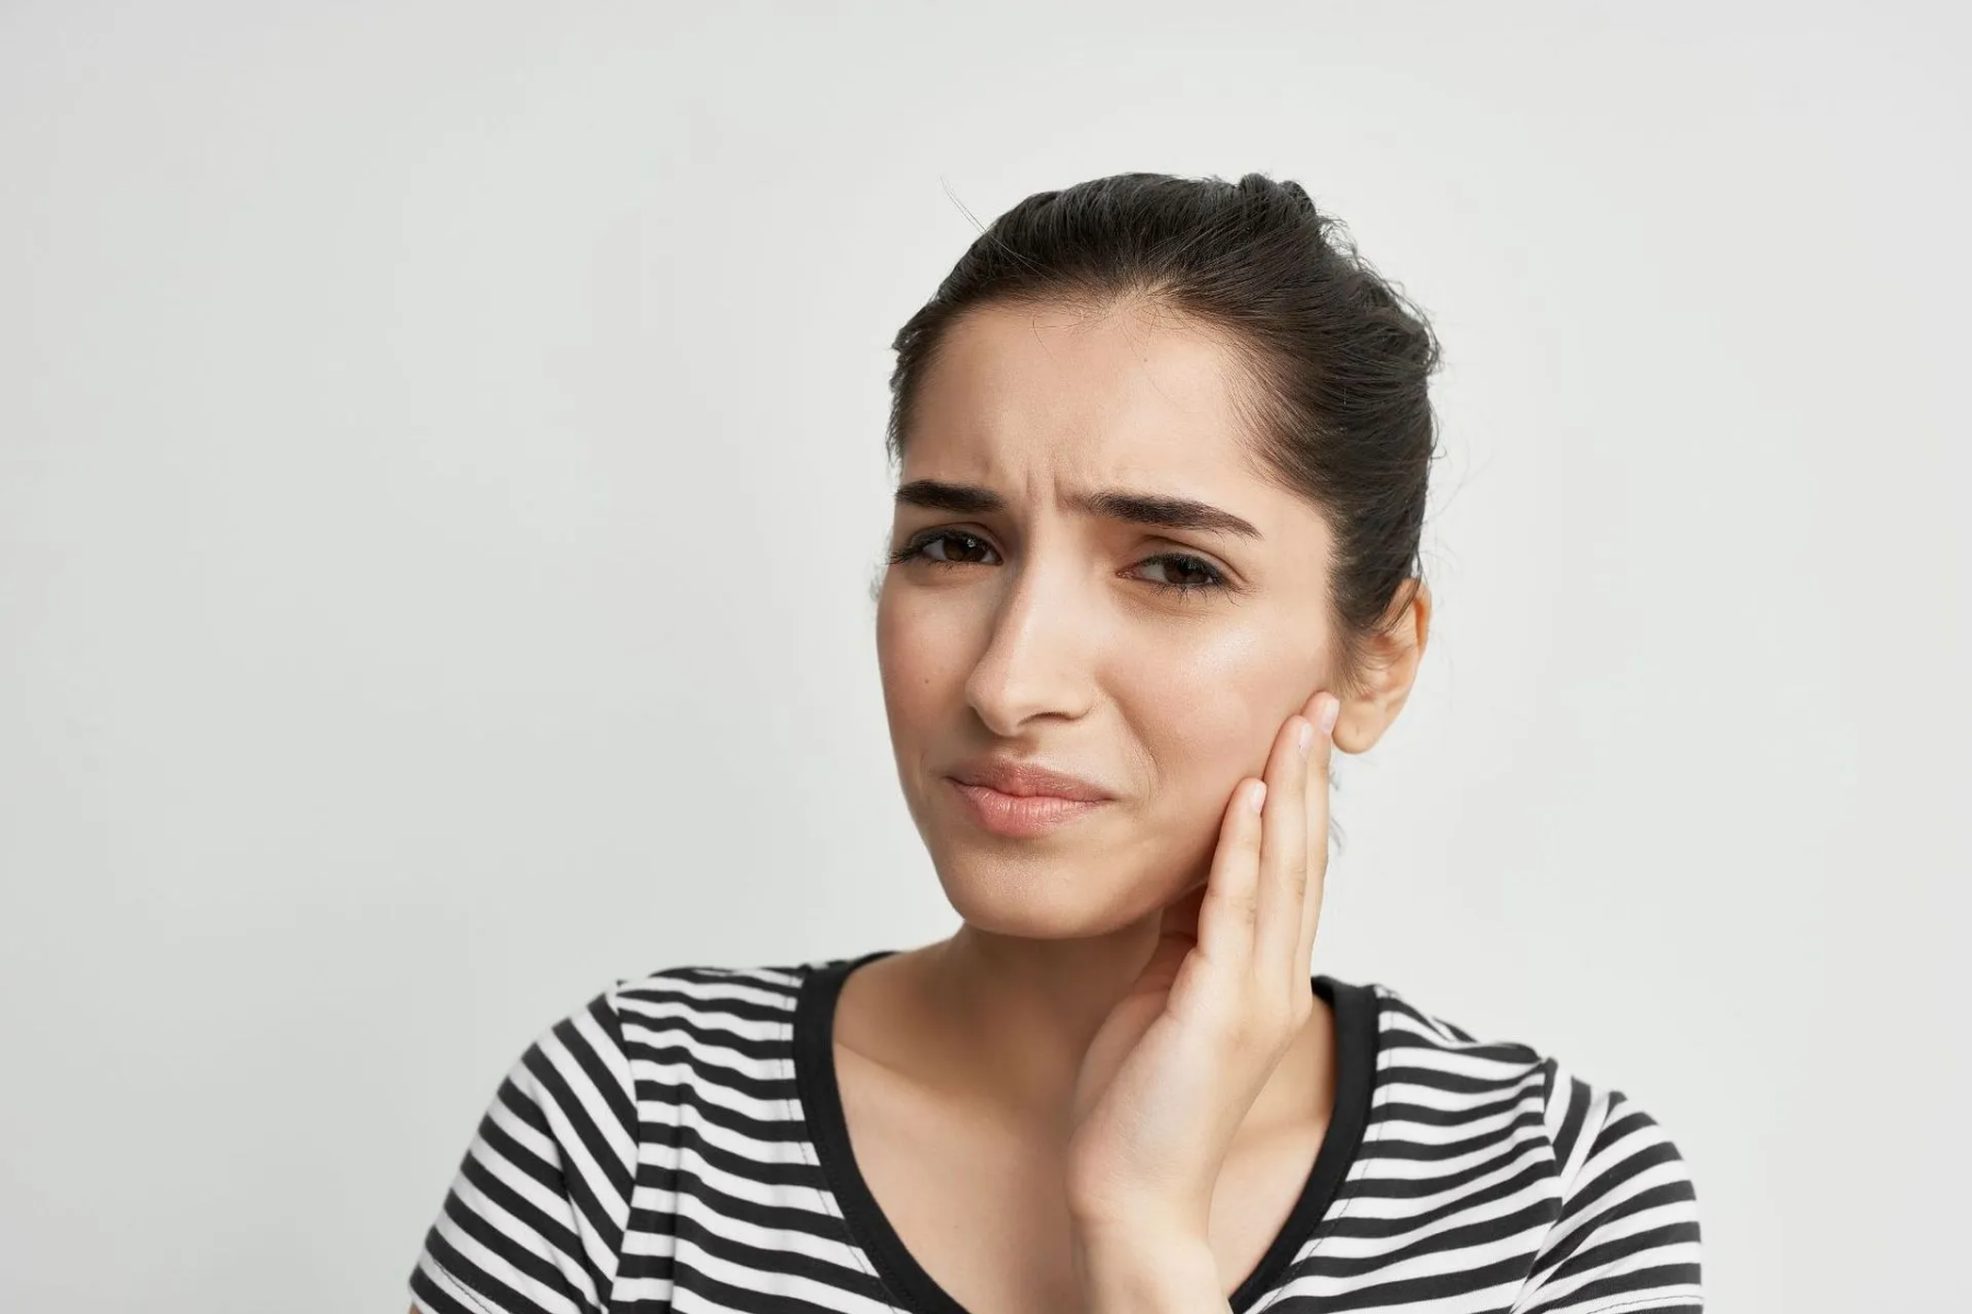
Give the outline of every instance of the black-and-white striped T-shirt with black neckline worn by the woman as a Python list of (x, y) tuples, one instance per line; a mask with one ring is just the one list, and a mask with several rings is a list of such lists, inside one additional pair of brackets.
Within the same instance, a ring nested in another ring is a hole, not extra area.
[[(842, 979), (891, 952), (667, 967), (542, 1032), (426, 1231), (414, 1306), (964, 1314), (870, 1194), (836, 1087)], [(1232, 1314), (1704, 1308), (1690, 1174), (1623, 1091), (1386, 985), (1311, 985), (1335, 1109)]]

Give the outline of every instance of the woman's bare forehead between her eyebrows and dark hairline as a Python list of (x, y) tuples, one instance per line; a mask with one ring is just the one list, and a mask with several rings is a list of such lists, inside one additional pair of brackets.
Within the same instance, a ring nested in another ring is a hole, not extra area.
[(1144, 303), (974, 307), (919, 386), (903, 477), (1254, 496), (1238, 386), (1229, 347)]

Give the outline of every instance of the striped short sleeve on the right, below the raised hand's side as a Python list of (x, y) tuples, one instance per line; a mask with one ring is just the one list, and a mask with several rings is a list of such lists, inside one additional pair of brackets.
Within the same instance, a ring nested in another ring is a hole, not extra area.
[(1678, 1147), (1623, 1091), (1546, 1066), (1562, 1210), (1513, 1314), (1704, 1310), (1698, 1192)]

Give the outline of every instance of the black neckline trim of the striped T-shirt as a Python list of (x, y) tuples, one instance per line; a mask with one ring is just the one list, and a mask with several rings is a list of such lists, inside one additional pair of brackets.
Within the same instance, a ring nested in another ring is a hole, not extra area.
[[(850, 1243), (862, 1247), (876, 1265), (878, 1277), (913, 1314), (970, 1314), (958, 1300), (925, 1273), (917, 1257), (883, 1217), (870, 1184), (856, 1166), (850, 1149), (848, 1117), (842, 1113), (842, 1087), (836, 1085), (836, 999), (842, 981), (854, 969), (897, 950), (878, 950), (860, 957), (838, 957), (810, 963), (795, 999), (793, 1050), (795, 1089), (809, 1121), (818, 1166), (842, 1208)], [(1300, 1249), (1313, 1237), (1323, 1215), (1335, 1202), (1349, 1164), (1363, 1145), (1369, 1127), (1371, 1093), (1376, 1084), (1376, 999), (1369, 985), (1349, 985), (1329, 975), (1309, 977), (1315, 995), (1335, 1011), (1335, 1109), (1321, 1149), (1302, 1186), (1302, 1196), (1288, 1221), (1266, 1247), (1260, 1263), (1231, 1296), (1232, 1314), (1246, 1314), (1252, 1304), (1274, 1288)]]

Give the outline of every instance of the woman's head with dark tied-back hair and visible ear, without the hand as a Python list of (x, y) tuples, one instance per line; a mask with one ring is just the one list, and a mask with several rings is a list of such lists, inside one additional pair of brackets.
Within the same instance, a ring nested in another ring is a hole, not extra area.
[[(895, 339), (878, 658), (911, 814), (982, 930), (1092, 936), (1205, 879), (1315, 690), (1402, 709), (1438, 349), (1296, 183), (1126, 173), (1002, 215)], [(951, 772), (1108, 798), (1033, 837)]]

